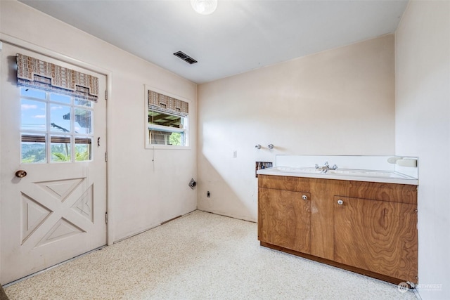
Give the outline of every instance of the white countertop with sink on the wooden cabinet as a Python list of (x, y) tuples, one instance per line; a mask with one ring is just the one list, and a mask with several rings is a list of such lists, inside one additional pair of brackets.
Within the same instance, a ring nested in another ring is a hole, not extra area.
[(258, 170), (257, 174), (418, 185), (417, 178), (396, 171), (336, 169), (322, 173), (314, 168), (274, 167)]

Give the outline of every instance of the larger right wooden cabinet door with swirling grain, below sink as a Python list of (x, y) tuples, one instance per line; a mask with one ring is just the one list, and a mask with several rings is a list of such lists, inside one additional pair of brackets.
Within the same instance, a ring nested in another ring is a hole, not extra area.
[(335, 261), (417, 282), (416, 205), (334, 197)]

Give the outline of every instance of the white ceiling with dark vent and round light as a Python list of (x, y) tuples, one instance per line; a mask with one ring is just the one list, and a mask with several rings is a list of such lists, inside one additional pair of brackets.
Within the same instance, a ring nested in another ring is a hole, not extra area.
[[(408, 0), (20, 0), (201, 84), (396, 30)], [(173, 55), (183, 51), (198, 63)]]

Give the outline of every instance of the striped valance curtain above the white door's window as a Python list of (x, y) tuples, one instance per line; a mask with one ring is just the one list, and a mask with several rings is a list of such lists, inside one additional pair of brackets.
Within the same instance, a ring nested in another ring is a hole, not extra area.
[(98, 78), (44, 60), (17, 54), (17, 81), (26, 86), (96, 101)]

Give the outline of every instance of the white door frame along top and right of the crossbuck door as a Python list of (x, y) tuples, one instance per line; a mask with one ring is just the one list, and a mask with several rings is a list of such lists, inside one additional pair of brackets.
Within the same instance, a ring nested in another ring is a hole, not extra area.
[[(61, 60), (65, 63), (70, 63), (72, 65), (76, 65), (77, 67), (82, 67), (86, 70), (90, 70), (92, 72), (96, 72), (98, 74), (102, 74), (106, 77), (106, 93), (108, 95), (108, 98), (106, 99), (106, 145), (105, 149), (108, 153), (108, 156), (110, 156), (110, 138), (113, 138), (112, 134), (110, 134), (110, 131), (108, 131), (108, 127), (110, 125), (110, 119), (111, 118), (111, 112), (109, 109), (108, 102), (113, 98), (112, 92), (111, 92), (111, 85), (112, 85), (112, 77), (113, 72), (110, 70), (105, 70), (101, 67), (98, 67), (96, 65), (92, 65), (91, 63), (85, 63), (82, 60), (78, 60), (76, 58), (72, 58), (70, 56), (65, 56), (64, 54), (57, 53), (55, 51), (50, 50), (49, 48), (44, 48), (41, 46), (37, 46), (35, 44), (31, 44), (27, 41), (23, 41), (22, 39), (17, 39), (15, 37), (12, 37), (8, 34), (2, 34), (0, 33), (0, 51), (3, 48), (2, 43), (10, 44), (11, 46), (16, 46), (19, 48), (23, 48), (27, 51), (32, 51), (35, 53), (39, 53), (44, 56), (48, 56), (50, 58), (54, 58), (56, 60)], [(102, 93), (102, 91), (100, 91)], [(1, 131), (1, 128), (0, 128)], [(0, 135), (0, 141), (1, 141), (1, 135)], [(0, 153), (1, 155), (1, 153)], [(114, 226), (113, 226), (113, 216), (114, 216), (114, 209), (113, 205), (109, 201), (108, 195), (110, 195), (110, 184), (108, 182), (108, 178), (110, 178), (110, 166), (108, 164), (108, 161), (106, 163), (106, 173), (105, 173), (105, 181), (106, 181), (106, 211), (108, 212), (108, 223), (106, 223), (106, 244), (109, 246), (113, 244), (114, 242)], [(1, 162), (0, 162), (0, 168), (1, 168)], [(1, 189), (1, 186), (0, 186)], [(1, 192), (1, 190), (0, 190)], [(1, 212), (1, 205), (0, 205), (0, 212)], [(1, 242), (1, 236), (0, 236), (0, 242)], [(0, 270), (1, 270), (1, 264), (0, 264)]]

